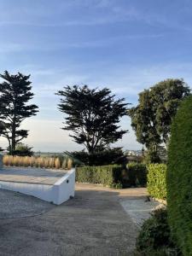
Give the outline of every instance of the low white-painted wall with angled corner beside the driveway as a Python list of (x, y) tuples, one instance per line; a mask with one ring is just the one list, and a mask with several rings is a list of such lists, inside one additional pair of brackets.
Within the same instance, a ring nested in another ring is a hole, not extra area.
[(33, 195), (44, 201), (60, 205), (74, 196), (75, 169), (67, 172), (55, 184), (21, 183), (0, 181), (0, 189), (8, 189), (26, 195)]

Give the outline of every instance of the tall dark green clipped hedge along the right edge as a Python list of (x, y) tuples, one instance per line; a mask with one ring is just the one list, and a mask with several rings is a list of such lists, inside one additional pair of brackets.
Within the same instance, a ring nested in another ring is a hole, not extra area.
[(168, 149), (167, 205), (172, 235), (192, 255), (192, 96), (178, 108)]

